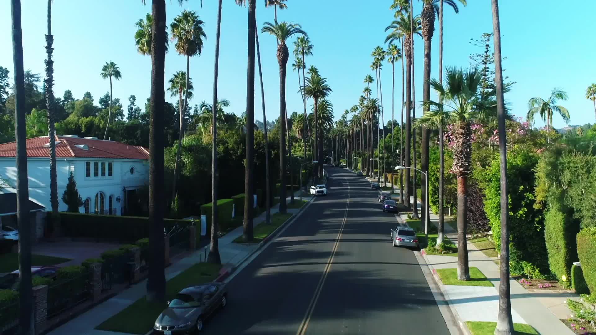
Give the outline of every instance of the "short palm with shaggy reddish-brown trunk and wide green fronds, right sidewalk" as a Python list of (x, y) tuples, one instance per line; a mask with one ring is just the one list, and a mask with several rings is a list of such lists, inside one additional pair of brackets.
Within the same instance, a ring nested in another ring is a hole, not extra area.
[(471, 173), (471, 122), (494, 119), (495, 101), (492, 98), (479, 99), (480, 75), (476, 68), (470, 70), (447, 68), (445, 85), (436, 79), (430, 85), (436, 91), (438, 101), (423, 101), (426, 112), (416, 120), (414, 126), (434, 128), (441, 122), (454, 125), (452, 130), (454, 146), (453, 170), (457, 175), (457, 248), (459, 280), (469, 280), (466, 231), (468, 225), (467, 183)]

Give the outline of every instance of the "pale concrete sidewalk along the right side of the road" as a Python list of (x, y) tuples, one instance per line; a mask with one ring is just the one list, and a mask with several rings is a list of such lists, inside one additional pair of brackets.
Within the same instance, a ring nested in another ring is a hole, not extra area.
[[(417, 201), (418, 202), (418, 201)], [(412, 199), (413, 203), (413, 199)], [(418, 202), (420, 207), (420, 202)], [(406, 214), (400, 215), (402, 222), (407, 219)], [(438, 227), (439, 217), (430, 214), (430, 221)], [(457, 243), (457, 231), (449, 224), (444, 225), (445, 236)], [(445, 294), (458, 323), (465, 321), (496, 322), (499, 307), (499, 266), (494, 262), (496, 258), (489, 258), (474, 244), (468, 242), (468, 264), (478, 268), (488, 278), (494, 287), (480, 286), (451, 286), (439, 283)], [(423, 253), (434, 278), (436, 269), (457, 268), (457, 258), (454, 256), (437, 256)], [(513, 322), (530, 324), (541, 334), (574, 334), (560, 319), (569, 318), (571, 312), (564, 301), (578, 297), (572, 293), (557, 293), (548, 290), (526, 290), (510, 278), (511, 286), (511, 314)]]

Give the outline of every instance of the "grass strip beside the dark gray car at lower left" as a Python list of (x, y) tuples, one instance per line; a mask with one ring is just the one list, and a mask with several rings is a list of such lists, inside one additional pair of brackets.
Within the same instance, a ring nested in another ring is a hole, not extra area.
[[(207, 283), (218, 277), (221, 265), (198, 263), (166, 283), (166, 300), (176, 296), (185, 287)], [(157, 316), (166, 308), (164, 302), (147, 302), (142, 297), (132, 305), (95, 327), (98, 330), (119, 331), (121, 333), (145, 334), (151, 330)]]

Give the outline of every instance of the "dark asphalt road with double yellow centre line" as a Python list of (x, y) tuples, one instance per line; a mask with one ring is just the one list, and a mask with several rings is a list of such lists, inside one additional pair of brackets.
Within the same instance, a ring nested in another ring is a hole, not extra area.
[(390, 243), (398, 222), (378, 191), (347, 170), (328, 173), (327, 197), (232, 278), (204, 333), (449, 334), (414, 252)]

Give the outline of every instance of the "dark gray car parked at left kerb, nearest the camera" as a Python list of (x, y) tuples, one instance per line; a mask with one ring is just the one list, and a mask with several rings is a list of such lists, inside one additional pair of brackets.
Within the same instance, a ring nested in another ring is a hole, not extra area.
[(153, 329), (158, 334), (186, 334), (203, 330), (203, 322), (219, 308), (224, 308), (228, 291), (224, 284), (206, 283), (191, 286), (167, 302)]

